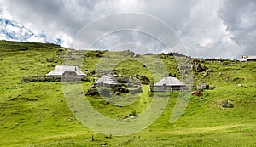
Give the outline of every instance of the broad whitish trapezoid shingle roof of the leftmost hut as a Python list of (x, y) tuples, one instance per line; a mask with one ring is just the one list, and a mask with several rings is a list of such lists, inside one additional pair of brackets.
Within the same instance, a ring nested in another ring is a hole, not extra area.
[(84, 72), (79, 70), (78, 66), (73, 65), (56, 65), (55, 70), (50, 71), (46, 76), (62, 76), (66, 71), (73, 71), (79, 76), (86, 76)]

